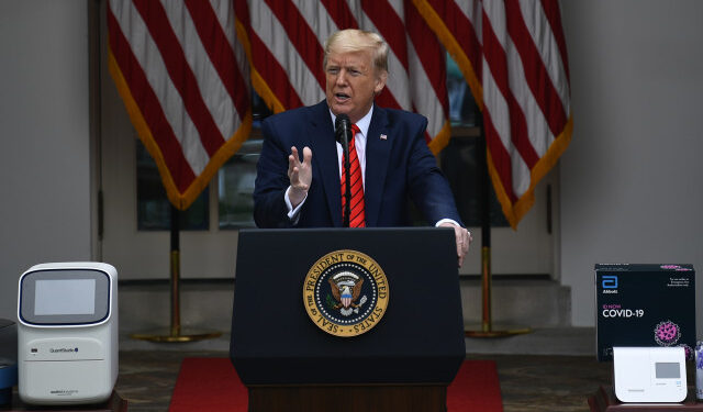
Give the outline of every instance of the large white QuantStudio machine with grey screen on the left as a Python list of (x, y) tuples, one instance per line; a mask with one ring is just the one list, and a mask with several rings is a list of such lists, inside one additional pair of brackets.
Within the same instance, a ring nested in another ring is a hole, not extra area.
[(118, 271), (55, 263), (20, 277), (18, 389), (34, 404), (99, 403), (118, 379)]

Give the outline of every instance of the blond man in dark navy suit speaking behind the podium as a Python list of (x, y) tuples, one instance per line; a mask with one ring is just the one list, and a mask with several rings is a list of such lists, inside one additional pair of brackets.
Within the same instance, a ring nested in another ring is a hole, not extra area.
[(386, 42), (376, 33), (337, 32), (325, 43), (324, 70), (324, 101), (264, 121), (254, 190), (256, 224), (342, 226), (343, 149), (334, 122), (344, 113), (358, 126), (354, 141), (362, 176), (361, 225), (411, 224), (410, 199), (431, 224), (454, 227), (461, 265), (471, 235), (460, 225), (449, 185), (425, 143), (427, 120), (373, 104), (388, 78)]

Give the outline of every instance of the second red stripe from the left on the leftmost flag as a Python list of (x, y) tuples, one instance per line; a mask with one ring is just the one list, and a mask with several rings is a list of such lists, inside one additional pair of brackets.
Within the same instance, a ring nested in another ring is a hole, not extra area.
[(203, 147), (209, 155), (214, 155), (224, 143), (225, 136), (220, 133), (200, 90), (198, 90), (196, 76), (188, 65), (161, 3), (148, 0), (133, 0), (133, 2), (144, 21), (148, 22), (149, 34), (161, 53), (174, 86), (183, 99), (186, 111), (198, 129)]

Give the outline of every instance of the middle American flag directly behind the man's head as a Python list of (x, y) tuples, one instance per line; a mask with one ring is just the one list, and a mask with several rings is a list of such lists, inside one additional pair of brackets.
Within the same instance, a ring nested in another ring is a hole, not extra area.
[(325, 98), (324, 42), (343, 29), (379, 33), (389, 44), (381, 107), (423, 113), (438, 153), (450, 136), (445, 52), (411, 1), (234, 0), (245, 29), (252, 82), (275, 112)]

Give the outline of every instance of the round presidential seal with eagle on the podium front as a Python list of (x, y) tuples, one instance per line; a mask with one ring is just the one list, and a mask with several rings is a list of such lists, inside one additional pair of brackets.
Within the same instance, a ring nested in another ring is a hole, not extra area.
[(386, 274), (376, 260), (357, 250), (335, 250), (308, 271), (303, 305), (321, 330), (357, 336), (383, 318), (388, 291)]

